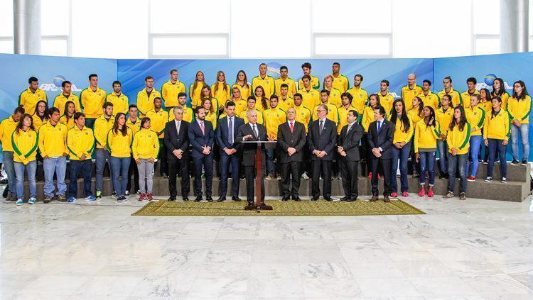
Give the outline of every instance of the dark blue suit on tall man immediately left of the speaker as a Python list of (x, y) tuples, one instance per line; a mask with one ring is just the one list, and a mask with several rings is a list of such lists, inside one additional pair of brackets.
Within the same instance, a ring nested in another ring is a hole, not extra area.
[[(216, 138), (217, 144), (220, 146), (220, 196), (225, 197), (227, 193), (227, 174), (231, 168), (232, 171), (232, 197), (237, 198), (239, 196), (239, 156), (240, 143), (235, 143), (237, 139), (237, 131), (239, 126), (244, 125), (244, 120), (237, 116), (233, 117), (232, 123), (232, 143), (230, 144), (229, 130), (228, 130), (228, 117), (221, 118), (218, 121)], [(227, 155), (224, 148), (235, 149), (237, 152), (232, 155)]]

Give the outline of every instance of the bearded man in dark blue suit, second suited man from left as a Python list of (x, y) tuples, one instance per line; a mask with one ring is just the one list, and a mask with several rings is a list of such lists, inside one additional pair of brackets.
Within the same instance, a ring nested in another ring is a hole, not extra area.
[(212, 146), (215, 142), (215, 131), (212, 123), (205, 120), (203, 107), (195, 108), (196, 120), (189, 126), (189, 140), (193, 145), (194, 193), (196, 202), (202, 201), (202, 167), (205, 172), (205, 199), (212, 201)]

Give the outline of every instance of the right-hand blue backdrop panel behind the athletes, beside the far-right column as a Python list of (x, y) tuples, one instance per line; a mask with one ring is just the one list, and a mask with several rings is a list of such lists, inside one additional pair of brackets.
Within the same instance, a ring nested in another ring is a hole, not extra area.
[[(466, 79), (475, 77), (478, 79), (478, 89), (487, 87), (492, 91), (492, 78), (500, 77), (505, 82), (507, 92), (512, 95), (512, 84), (517, 80), (523, 80), (533, 84), (533, 73), (529, 67), (533, 65), (533, 52), (510, 53), (500, 55), (480, 55), (468, 57), (436, 58), (434, 60), (434, 73), (436, 91), (443, 89), (442, 79), (451, 76), (453, 89), (466, 90)], [(532, 87), (529, 87), (531, 89)], [(531, 124), (531, 115), (529, 122)], [(533, 130), (529, 126), (529, 140), (533, 140)], [(522, 158), (522, 145), (519, 144), (519, 160)], [(533, 159), (533, 148), (529, 148), (529, 160)], [(511, 146), (507, 147), (507, 160), (512, 160)]]

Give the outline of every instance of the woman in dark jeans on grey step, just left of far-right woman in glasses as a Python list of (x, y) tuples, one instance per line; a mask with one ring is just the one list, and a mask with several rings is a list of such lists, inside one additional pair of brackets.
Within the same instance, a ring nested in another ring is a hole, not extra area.
[[(502, 174), (502, 183), (507, 182), (507, 162), (505, 162), (505, 150), (511, 136), (511, 121), (509, 113), (502, 109), (502, 99), (500, 96), (492, 98), (492, 110), (485, 118), (485, 128), (483, 128), (483, 140), (488, 147), (488, 167), (487, 179), (485, 182), (492, 182), (492, 170), (496, 153), (500, 155), (500, 172)], [(503, 162), (503, 163), (502, 163)]]

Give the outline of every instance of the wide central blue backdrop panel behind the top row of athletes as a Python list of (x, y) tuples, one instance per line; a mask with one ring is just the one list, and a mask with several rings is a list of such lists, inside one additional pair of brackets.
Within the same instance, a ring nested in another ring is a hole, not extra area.
[(289, 77), (298, 81), (303, 75), (301, 64), (311, 62), (313, 76), (321, 79), (331, 73), (333, 62), (340, 63), (340, 73), (348, 77), (350, 87), (353, 85), (355, 74), (362, 74), (364, 77), (363, 88), (369, 94), (379, 91), (379, 82), (388, 79), (391, 83), (390, 90), (399, 95), (402, 86), (407, 84), (407, 75), (415, 72), (419, 78), (433, 80), (433, 60), (432, 59), (376, 59), (376, 60), (119, 60), (117, 76), (122, 82), (124, 94), (129, 97), (130, 103), (135, 103), (137, 92), (144, 88), (144, 77), (151, 75), (154, 77), (156, 89), (161, 89), (163, 83), (167, 82), (171, 69), (179, 71), (179, 80), (189, 89), (194, 82), (195, 74), (201, 70), (205, 74), (205, 81), (208, 84), (215, 82), (216, 74), (222, 70), (226, 74), (228, 84), (235, 83), (235, 77), (239, 70), (244, 70), (248, 77), (248, 82), (259, 74), (259, 64), (265, 62), (269, 67), (269, 75), (279, 77), (279, 67), (286, 65), (289, 67)]

